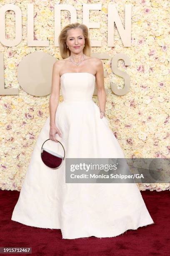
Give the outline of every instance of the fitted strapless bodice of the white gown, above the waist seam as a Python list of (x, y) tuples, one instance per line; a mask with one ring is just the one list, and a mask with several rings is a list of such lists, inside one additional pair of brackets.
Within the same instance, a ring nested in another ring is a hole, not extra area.
[(64, 102), (92, 100), (95, 76), (88, 72), (64, 73), (60, 77)]

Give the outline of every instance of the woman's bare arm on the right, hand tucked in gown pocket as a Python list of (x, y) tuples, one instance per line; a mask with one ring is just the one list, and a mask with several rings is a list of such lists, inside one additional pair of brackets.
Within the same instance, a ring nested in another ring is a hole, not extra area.
[(97, 97), (99, 100), (100, 105), (100, 118), (105, 115), (105, 105), (106, 105), (106, 93), (105, 93), (105, 86), (104, 86), (104, 69), (103, 64), (100, 59), (97, 59), (96, 61), (96, 87), (97, 87)]

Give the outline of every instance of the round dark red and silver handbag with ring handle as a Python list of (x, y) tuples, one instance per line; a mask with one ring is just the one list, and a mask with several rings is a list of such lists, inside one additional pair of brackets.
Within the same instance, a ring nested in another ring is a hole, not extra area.
[[(48, 141), (48, 140), (50, 140), (50, 139), (47, 139), (46, 141)], [(44, 141), (44, 143), (46, 141)], [(62, 143), (60, 141), (58, 141), (58, 142), (61, 144), (62, 148), (64, 149)], [(57, 154), (47, 148), (44, 148), (43, 147), (44, 143), (42, 144), (42, 147), (41, 147), (41, 159), (42, 159), (43, 163), (46, 166), (50, 167), (51, 169), (59, 168), (65, 159), (65, 149), (64, 149), (64, 156), (61, 156), (60, 154)]]

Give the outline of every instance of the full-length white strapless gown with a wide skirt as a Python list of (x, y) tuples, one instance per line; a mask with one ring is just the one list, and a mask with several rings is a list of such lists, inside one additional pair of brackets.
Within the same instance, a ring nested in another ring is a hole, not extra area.
[[(105, 117), (92, 100), (95, 76), (65, 73), (60, 78), (63, 101), (56, 125), (66, 158), (125, 158)], [(135, 183), (65, 183), (65, 161), (55, 170), (41, 160), (49, 138), (47, 118), (32, 152), (12, 220), (25, 225), (61, 229), (62, 238), (114, 237), (128, 229), (153, 224)], [(52, 141), (53, 142), (53, 141)], [(56, 143), (60, 144), (60, 143)]]

